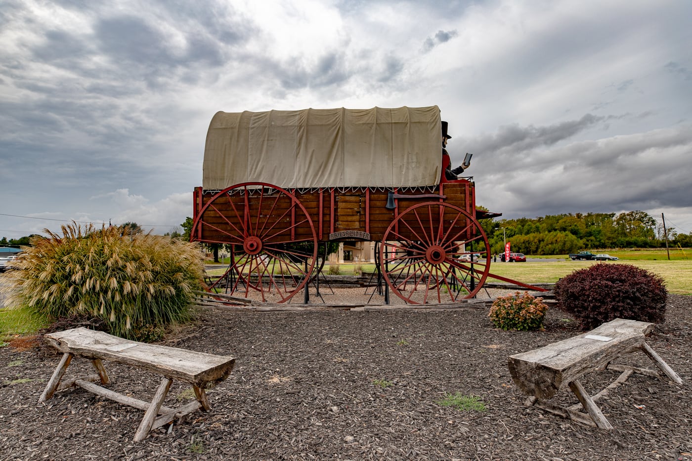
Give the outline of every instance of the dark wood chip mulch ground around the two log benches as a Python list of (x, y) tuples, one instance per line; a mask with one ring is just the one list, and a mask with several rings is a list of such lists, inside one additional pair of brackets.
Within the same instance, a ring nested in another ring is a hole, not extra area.
[[(670, 295), (649, 341), (683, 386), (632, 375), (599, 401), (612, 433), (522, 404), (507, 356), (579, 334), (554, 308), (545, 331), (530, 333), (495, 329), (482, 306), (206, 309), (165, 344), (235, 356), (235, 370), (208, 391), (209, 413), (138, 443), (140, 410), (81, 389), (37, 404), (60, 356), (24, 341), (0, 347), (0, 460), (692, 460), (691, 309), (692, 297)], [(68, 374), (90, 366), (75, 359)], [(160, 381), (107, 368), (113, 390), (134, 397), (150, 399)], [(585, 381), (597, 391), (615, 377)], [(190, 398), (175, 386), (170, 405)], [(455, 392), (480, 397), (486, 410), (439, 404)]]

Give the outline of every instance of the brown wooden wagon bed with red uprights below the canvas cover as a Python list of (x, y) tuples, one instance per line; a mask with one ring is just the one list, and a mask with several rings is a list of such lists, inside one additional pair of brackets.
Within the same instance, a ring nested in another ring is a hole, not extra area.
[[(252, 221), (254, 217), (258, 227), (266, 222), (265, 226), (285, 230), (272, 236), (275, 241), (285, 240), (286, 234), (291, 235), (291, 239), (311, 239), (314, 231), (318, 241), (362, 239), (379, 242), (401, 213), (429, 201), (450, 204), (475, 216), (473, 183), (467, 180), (415, 188), (319, 188), (285, 192), (271, 185), (250, 184), (226, 192), (196, 188), (194, 220), (197, 226), (194, 232), (201, 242), (233, 244), (237, 243), (238, 231), (246, 226), (246, 219)], [(254, 214), (246, 217), (242, 213), (246, 208), (251, 208)], [(444, 211), (441, 219), (448, 222), (458, 215), (452, 208)], [(304, 222), (306, 216), (312, 226)], [(409, 224), (411, 229), (399, 226), (399, 230), (402, 235), (415, 239), (414, 231), (421, 231), (421, 227), (415, 221)], [(464, 225), (465, 221), (459, 224)], [(469, 229), (463, 238), (468, 239), (471, 233)]]

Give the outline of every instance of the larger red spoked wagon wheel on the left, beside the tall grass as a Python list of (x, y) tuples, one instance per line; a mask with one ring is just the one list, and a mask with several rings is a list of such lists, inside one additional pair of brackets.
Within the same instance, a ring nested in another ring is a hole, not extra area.
[(210, 288), (262, 301), (286, 302), (308, 281), (317, 259), (317, 234), (291, 192), (267, 183), (242, 183), (204, 204), (192, 239), (230, 244), (228, 270)]

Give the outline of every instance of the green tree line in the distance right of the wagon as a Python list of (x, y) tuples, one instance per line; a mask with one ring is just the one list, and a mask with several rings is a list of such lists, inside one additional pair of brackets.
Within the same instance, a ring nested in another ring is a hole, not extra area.
[[(530, 219), (484, 219), (481, 222), (492, 253), (504, 242), (511, 250), (531, 255), (564, 255), (594, 248), (662, 248), (664, 228), (644, 211), (627, 213), (574, 213)], [(692, 233), (666, 228), (669, 246), (692, 246)]]

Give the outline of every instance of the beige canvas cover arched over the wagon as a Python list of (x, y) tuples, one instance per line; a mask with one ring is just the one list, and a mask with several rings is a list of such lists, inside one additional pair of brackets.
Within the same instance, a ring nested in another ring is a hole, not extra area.
[(202, 188), (430, 186), (441, 174), (439, 108), (217, 112)]

